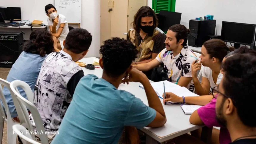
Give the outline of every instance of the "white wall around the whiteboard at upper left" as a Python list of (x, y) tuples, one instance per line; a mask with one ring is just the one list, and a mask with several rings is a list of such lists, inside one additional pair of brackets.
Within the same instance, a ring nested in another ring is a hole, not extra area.
[[(41, 20), (47, 23), (44, 7), (54, 0), (0, 0), (1, 7), (21, 7), (21, 19)], [(92, 44), (86, 57), (98, 57), (100, 47), (100, 0), (81, 0), (81, 24), (93, 36)], [(57, 9), (58, 10), (58, 9)], [(71, 25), (76, 27), (76, 25)], [(26, 32), (25, 32), (26, 33)]]

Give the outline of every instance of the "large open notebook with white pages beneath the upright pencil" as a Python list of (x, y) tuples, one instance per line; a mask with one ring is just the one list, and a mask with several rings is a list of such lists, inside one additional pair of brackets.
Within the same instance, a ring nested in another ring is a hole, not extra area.
[[(163, 83), (165, 84), (165, 92), (172, 92), (177, 96), (198, 96), (195, 93), (192, 93), (191, 91), (189, 91), (186, 87), (181, 87), (177, 84), (171, 83), (169, 81), (162, 81), (162, 82), (154, 82), (151, 83), (152, 87), (154, 88), (155, 92), (157, 93), (157, 96), (159, 96), (160, 98), (163, 98)], [(143, 85), (140, 85), (141, 88), (144, 89)], [(169, 102), (171, 104), (175, 104), (173, 102)]]

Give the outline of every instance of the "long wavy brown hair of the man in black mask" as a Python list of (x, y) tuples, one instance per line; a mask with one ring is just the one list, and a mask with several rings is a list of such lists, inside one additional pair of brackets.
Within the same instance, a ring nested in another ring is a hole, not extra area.
[(157, 15), (155, 14), (154, 10), (148, 6), (141, 7), (138, 12), (134, 15), (133, 29), (136, 32), (140, 33), (141, 31), (141, 18), (142, 17), (153, 17), (153, 26), (156, 28), (158, 26), (158, 19)]

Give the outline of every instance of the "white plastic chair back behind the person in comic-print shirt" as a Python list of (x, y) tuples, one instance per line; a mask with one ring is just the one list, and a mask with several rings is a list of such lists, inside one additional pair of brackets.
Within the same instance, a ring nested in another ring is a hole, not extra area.
[[(44, 127), (43, 127), (43, 121), (40, 117), (40, 114), (38, 112), (38, 109), (35, 107), (35, 105), (32, 103), (32, 100), (27, 100), (26, 98), (22, 97), (17, 89), (17, 87), (21, 87), (22, 89), (24, 89), (26, 95), (33, 95), (33, 92), (31, 90), (31, 88), (29, 87), (29, 85), (26, 82), (23, 81), (13, 81), (10, 84), (10, 88), (13, 91), (14, 95), (16, 96), (16, 98), (18, 99), (19, 105), (20, 105), (20, 109), (22, 110), (24, 116), (25, 116), (25, 122), (27, 124), (27, 128), (30, 131), (34, 131), (30, 120), (29, 120), (29, 113), (26, 109), (26, 107), (29, 109), (29, 111), (32, 114), (33, 120), (35, 122), (35, 126), (36, 129), (38, 131), (39, 134), (39, 138), (41, 140), (41, 143), (43, 144), (49, 144), (47, 136), (44, 132)], [(29, 97), (28, 97), (29, 98)], [(43, 134), (41, 134), (41, 132), (43, 132)], [(32, 139), (35, 140), (35, 136), (34, 134), (31, 134)]]

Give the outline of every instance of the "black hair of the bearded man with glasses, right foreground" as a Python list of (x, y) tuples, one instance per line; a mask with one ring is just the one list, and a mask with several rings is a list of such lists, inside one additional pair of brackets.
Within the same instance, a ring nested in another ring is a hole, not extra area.
[(241, 121), (250, 127), (256, 127), (256, 113), (253, 104), (256, 101), (256, 55), (254, 53), (235, 54), (223, 64), (224, 94), (232, 99)]

